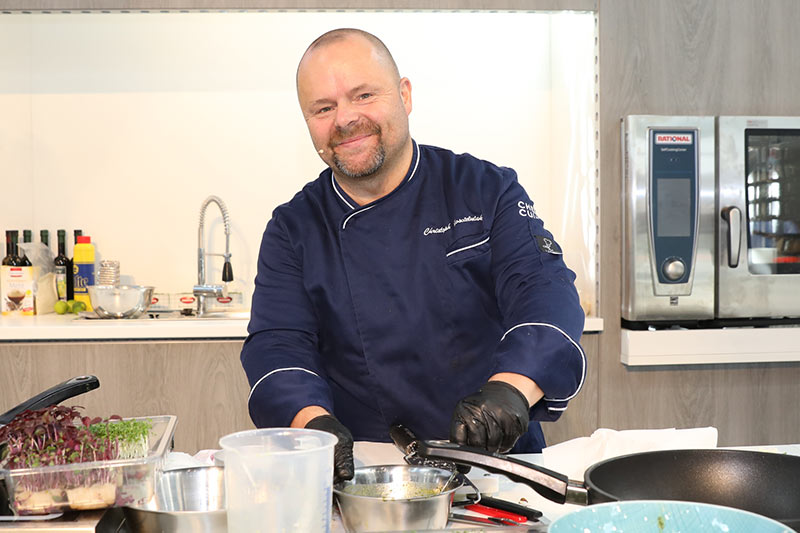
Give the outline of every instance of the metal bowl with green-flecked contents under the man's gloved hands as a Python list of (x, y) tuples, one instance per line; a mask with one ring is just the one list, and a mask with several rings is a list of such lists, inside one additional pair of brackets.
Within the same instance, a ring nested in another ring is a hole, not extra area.
[(348, 532), (443, 529), (463, 478), (428, 466), (357, 468), (333, 487)]

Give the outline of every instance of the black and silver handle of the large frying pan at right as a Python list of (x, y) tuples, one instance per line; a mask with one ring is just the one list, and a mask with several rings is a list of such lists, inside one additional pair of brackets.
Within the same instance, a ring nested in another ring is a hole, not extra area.
[[(441, 440), (418, 441), (417, 454), (425, 458), (453, 461), (502, 474), (512, 481), (528, 485), (556, 503), (566, 503), (568, 500), (569, 503), (582, 503), (580, 496), (575, 495), (581, 488), (570, 482), (567, 476), (513, 457)], [(583, 505), (586, 503), (588, 502)]]

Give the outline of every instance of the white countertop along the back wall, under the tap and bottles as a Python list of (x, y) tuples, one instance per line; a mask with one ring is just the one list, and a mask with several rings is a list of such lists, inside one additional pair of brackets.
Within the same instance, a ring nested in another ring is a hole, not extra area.
[[(101, 320), (47, 314), (0, 318), (0, 342), (244, 339), (247, 319), (140, 318)], [(587, 317), (584, 331), (603, 330), (603, 319)]]

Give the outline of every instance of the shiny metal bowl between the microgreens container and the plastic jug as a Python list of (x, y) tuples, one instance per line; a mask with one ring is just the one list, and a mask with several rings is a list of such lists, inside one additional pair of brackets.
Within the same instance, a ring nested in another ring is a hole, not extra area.
[(122, 511), (134, 533), (226, 531), (225, 469), (200, 466), (163, 472), (146, 505)]

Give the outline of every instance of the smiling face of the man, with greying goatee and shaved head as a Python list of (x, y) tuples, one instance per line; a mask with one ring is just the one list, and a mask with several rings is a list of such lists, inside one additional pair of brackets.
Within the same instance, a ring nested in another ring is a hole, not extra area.
[(411, 84), (362, 37), (309, 52), (297, 94), (314, 146), (338, 174), (371, 177), (409, 141)]

